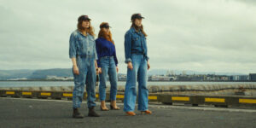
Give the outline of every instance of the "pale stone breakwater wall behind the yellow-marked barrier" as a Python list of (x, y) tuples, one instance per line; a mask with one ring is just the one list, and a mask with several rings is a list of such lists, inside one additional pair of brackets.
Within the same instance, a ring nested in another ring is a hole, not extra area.
[[(99, 86), (96, 86), (98, 93)], [(0, 90), (23, 91), (73, 91), (73, 86), (41, 86), (41, 87), (0, 87)], [(106, 91), (109, 92), (110, 86)], [(193, 85), (148, 85), (150, 94), (172, 95), (211, 95), (211, 96), (256, 96), (255, 84), (193, 84)], [(118, 86), (118, 92), (125, 92), (125, 86)]]

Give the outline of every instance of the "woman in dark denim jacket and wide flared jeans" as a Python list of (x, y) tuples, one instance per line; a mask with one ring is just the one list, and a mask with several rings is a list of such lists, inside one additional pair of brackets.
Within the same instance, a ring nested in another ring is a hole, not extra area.
[[(131, 15), (131, 29), (125, 33), (125, 63), (127, 63), (127, 79), (125, 84), (124, 111), (127, 115), (134, 116), (136, 98), (138, 110), (141, 113), (151, 114), (148, 110), (147, 70), (150, 68), (148, 62), (148, 47), (146, 43), (147, 34), (143, 30), (143, 16)], [(138, 97), (136, 82), (138, 81)]]

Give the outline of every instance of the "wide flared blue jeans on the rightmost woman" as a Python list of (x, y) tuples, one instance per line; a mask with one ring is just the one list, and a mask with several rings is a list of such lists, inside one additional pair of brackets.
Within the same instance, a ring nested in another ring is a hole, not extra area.
[(147, 89), (147, 60), (144, 55), (131, 55), (133, 69), (127, 68), (127, 79), (125, 84), (124, 111), (134, 111), (136, 104), (136, 82), (138, 81), (138, 110), (148, 110), (148, 89)]

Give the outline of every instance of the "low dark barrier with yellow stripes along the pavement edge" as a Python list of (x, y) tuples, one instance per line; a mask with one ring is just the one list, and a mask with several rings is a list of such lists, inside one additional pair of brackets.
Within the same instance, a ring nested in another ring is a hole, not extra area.
[[(71, 91), (22, 91), (22, 90), (0, 90), (0, 96), (26, 97), (26, 98), (51, 98), (72, 100)], [(124, 100), (124, 93), (118, 93), (118, 101)], [(109, 101), (107, 93), (107, 101)], [(84, 92), (84, 100), (86, 93)], [(96, 101), (99, 101), (99, 94), (96, 94)], [(149, 94), (149, 102), (162, 102), (164, 104), (184, 103), (192, 106), (214, 105), (215, 107), (228, 108), (229, 106), (256, 107), (256, 97), (252, 96), (182, 96), (170, 94)]]

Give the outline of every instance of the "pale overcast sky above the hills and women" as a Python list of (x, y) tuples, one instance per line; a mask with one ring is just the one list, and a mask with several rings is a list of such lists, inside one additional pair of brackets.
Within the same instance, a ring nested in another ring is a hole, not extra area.
[(112, 26), (120, 73), (124, 35), (141, 13), (152, 69), (256, 73), (253, 0), (0, 0), (0, 69), (70, 68), (79, 15)]

